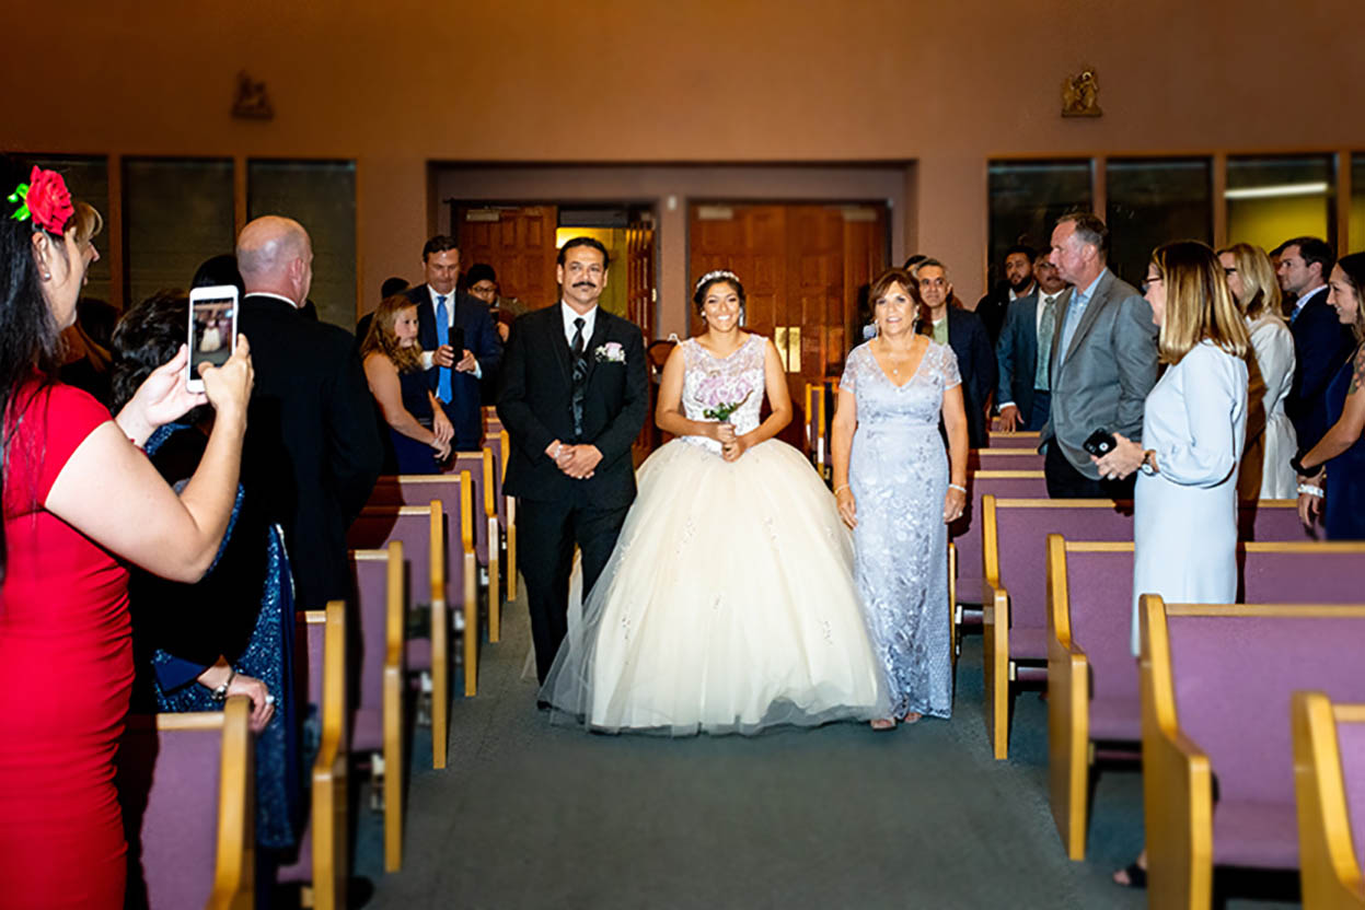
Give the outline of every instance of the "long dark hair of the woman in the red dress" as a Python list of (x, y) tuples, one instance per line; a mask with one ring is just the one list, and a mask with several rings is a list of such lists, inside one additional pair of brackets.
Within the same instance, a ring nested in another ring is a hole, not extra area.
[[(0, 156), (0, 501), (11, 499), (10, 443), (19, 416), (33, 398), (53, 382), (57, 371), (56, 321), (42, 296), (38, 263), (33, 256), (33, 221), (15, 221), (18, 206), (7, 201), (20, 183), (29, 181), (31, 166)], [(55, 237), (63, 252), (61, 237)], [(20, 387), (25, 389), (20, 396)], [(0, 521), (0, 583), (4, 581), (7, 550)]]

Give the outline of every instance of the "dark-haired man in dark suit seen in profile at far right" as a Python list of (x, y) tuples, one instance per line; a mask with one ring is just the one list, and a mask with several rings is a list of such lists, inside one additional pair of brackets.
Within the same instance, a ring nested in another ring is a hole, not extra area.
[(1294, 334), (1294, 383), (1284, 411), (1301, 452), (1312, 449), (1331, 427), (1327, 386), (1355, 347), (1350, 326), (1327, 303), (1327, 278), (1336, 265), (1332, 248), (1317, 237), (1286, 240), (1275, 277), (1280, 291), (1297, 296), (1290, 314)]

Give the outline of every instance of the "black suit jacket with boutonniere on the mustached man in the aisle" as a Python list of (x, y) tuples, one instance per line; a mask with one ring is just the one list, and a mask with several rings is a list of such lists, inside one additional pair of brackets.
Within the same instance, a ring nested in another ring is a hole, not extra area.
[[(627, 506), (635, 499), (631, 445), (650, 407), (640, 329), (598, 308), (587, 345), (583, 438), (575, 439), (572, 355), (560, 307), (556, 303), (512, 323), (498, 393), (498, 416), (512, 442), (504, 488), (531, 501)], [(622, 363), (599, 359), (598, 351), (612, 342), (624, 352)], [(565, 445), (591, 443), (602, 452), (590, 479), (573, 480), (556, 467), (545, 453), (556, 439)]]

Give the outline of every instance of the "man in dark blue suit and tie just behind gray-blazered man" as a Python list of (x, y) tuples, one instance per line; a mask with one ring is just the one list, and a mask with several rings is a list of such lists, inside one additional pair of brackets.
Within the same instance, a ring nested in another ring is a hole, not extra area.
[(995, 400), (1005, 432), (1041, 430), (1052, 397), (1048, 359), (1057, 315), (1065, 304), (1066, 282), (1047, 256), (1039, 256), (1033, 263), (1033, 292), (1010, 303), (1001, 340), (995, 342), (995, 362), (1001, 372)]

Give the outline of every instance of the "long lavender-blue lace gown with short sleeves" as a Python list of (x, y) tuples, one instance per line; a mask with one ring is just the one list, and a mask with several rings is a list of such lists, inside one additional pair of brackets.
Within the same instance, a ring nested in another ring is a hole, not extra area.
[(905, 385), (891, 382), (867, 344), (849, 353), (841, 381), (857, 398), (849, 456), (854, 574), (894, 716), (953, 711), (939, 415), (943, 392), (960, 383), (953, 349), (932, 341)]

